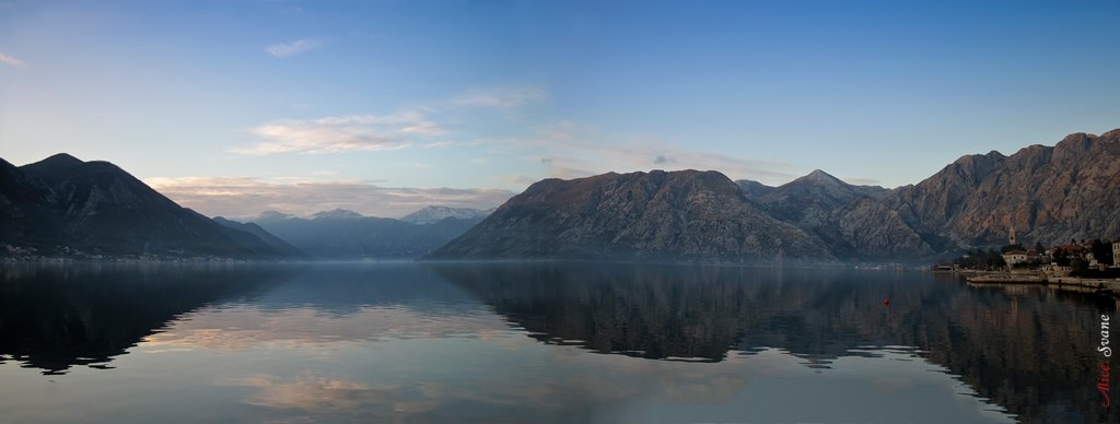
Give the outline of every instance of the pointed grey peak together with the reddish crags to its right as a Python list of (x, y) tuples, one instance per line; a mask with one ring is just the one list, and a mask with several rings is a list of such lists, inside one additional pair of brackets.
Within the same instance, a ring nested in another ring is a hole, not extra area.
[(814, 171), (782, 187), (752, 189), (763, 192), (756, 200), (776, 218), (813, 233), (844, 258), (999, 246), (1010, 228), (1028, 244), (1120, 236), (1120, 130), (1071, 134), (1054, 147), (1030, 145), (1010, 157), (964, 156), (894, 190), (825, 176)]

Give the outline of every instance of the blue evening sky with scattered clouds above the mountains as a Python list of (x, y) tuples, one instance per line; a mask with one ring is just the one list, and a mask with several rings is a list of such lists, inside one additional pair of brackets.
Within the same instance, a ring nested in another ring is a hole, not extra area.
[(917, 183), (1120, 128), (1120, 1), (0, 0), (0, 158), (208, 216), (489, 208), (544, 178)]

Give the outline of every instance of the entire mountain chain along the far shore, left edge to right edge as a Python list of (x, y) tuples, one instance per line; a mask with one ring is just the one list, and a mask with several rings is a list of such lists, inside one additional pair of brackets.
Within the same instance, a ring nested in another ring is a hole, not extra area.
[(815, 170), (769, 187), (716, 171), (533, 183), (495, 210), (401, 219), (336, 209), (250, 223), (183, 208), (116, 166), (0, 159), (0, 255), (226, 258), (594, 258), (745, 264), (930, 260), (962, 249), (1120, 236), (1120, 130), (1011, 156), (970, 154), (916, 183)]

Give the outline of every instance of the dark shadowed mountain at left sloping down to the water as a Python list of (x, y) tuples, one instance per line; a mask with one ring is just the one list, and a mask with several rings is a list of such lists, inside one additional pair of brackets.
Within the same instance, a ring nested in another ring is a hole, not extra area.
[(109, 162), (68, 154), (19, 168), (0, 162), (0, 245), (47, 256), (286, 256), (176, 205)]

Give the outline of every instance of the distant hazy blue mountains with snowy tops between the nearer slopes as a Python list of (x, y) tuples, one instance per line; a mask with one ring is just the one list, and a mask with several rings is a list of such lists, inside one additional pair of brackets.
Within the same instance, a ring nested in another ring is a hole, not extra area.
[(376, 218), (335, 209), (311, 219), (265, 211), (253, 223), (320, 258), (414, 258), (478, 224), (480, 218), (448, 217), (430, 224)]

